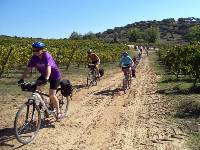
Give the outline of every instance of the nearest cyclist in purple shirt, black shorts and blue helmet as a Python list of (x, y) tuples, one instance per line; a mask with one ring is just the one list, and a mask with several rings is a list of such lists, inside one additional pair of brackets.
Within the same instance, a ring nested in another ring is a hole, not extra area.
[(56, 90), (60, 85), (61, 72), (51, 54), (48, 51), (45, 51), (44, 48), (45, 44), (42, 42), (32, 43), (33, 55), (29, 60), (28, 65), (21, 76), (21, 79), (18, 81), (18, 84), (23, 83), (26, 75), (31, 73), (32, 69), (35, 67), (41, 74), (41, 76), (37, 79), (36, 84), (40, 86), (50, 82), (50, 103), (52, 103), (56, 109), (57, 119), (61, 119), (63, 114), (59, 109), (59, 100), (56, 97)]

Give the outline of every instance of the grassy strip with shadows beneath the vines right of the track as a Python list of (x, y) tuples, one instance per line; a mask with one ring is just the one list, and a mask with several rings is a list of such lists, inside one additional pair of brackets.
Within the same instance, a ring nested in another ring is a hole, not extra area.
[(193, 86), (193, 80), (180, 77), (178, 80), (158, 61), (156, 53), (150, 55), (151, 65), (157, 75), (160, 75), (158, 93), (171, 103), (170, 118), (189, 135), (188, 147), (200, 149), (200, 85)]

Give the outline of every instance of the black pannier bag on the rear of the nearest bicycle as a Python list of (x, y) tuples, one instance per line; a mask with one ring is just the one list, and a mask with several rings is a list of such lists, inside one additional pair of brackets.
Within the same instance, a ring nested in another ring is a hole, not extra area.
[(72, 96), (72, 85), (69, 80), (62, 80), (60, 82), (61, 94), (65, 97)]

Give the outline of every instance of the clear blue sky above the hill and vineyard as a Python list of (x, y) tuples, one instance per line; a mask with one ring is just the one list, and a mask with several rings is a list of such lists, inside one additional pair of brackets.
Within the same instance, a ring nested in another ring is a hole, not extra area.
[(200, 0), (0, 0), (0, 35), (59, 39), (187, 17), (200, 18)]

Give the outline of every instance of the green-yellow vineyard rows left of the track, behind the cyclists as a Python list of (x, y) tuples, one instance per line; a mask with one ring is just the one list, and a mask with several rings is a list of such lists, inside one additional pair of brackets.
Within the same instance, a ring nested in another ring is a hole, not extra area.
[[(0, 38), (0, 77), (8, 69), (24, 66), (32, 55), (31, 44), (41, 39)], [(109, 44), (100, 40), (41, 40), (59, 65), (77, 66), (86, 63), (87, 50), (92, 48), (101, 62), (116, 62), (119, 54), (127, 50), (123, 44)]]

